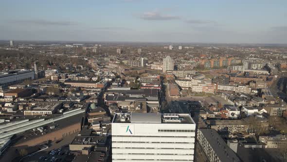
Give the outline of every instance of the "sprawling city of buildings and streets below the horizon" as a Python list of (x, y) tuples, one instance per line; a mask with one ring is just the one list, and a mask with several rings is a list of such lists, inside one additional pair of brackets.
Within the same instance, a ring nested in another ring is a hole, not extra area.
[(286, 87), (282, 44), (0, 41), (0, 162), (283, 162)]

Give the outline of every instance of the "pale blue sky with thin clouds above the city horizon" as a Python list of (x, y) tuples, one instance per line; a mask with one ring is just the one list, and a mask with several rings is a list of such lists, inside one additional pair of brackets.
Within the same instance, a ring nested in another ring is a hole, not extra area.
[(287, 43), (287, 0), (0, 0), (0, 40)]

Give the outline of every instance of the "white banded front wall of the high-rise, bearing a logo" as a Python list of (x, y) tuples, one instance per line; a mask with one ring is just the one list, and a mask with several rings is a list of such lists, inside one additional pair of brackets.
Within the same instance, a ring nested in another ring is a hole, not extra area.
[(113, 122), (112, 162), (193, 162), (195, 129), (189, 123)]

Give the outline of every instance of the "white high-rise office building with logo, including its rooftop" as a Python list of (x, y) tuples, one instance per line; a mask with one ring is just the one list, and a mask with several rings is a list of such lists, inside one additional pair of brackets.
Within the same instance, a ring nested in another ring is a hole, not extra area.
[(112, 162), (193, 162), (195, 131), (189, 114), (117, 113)]

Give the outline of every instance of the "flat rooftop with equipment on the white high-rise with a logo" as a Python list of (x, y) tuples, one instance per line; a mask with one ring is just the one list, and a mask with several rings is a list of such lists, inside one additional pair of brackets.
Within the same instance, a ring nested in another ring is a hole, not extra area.
[(189, 114), (116, 113), (112, 122), (195, 123)]

